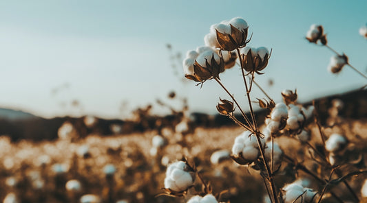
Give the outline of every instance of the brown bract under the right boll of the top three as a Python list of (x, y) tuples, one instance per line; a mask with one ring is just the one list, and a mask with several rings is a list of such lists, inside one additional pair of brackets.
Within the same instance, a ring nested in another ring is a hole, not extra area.
[(259, 55), (253, 56), (251, 49), (249, 49), (247, 55), (242, 54), (241, 65), (244, 67), (244, 70), (250, 73), (256, 72), (258, 74), (262, 74), (258, 71), (265, 69), (265, 67), (268, 65), (268, 62), (268, 53), (265, 54), (264, 59), (262, 59)]

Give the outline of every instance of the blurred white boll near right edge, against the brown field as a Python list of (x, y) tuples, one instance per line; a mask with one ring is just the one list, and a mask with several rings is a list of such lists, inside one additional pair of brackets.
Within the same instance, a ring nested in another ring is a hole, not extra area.
[(325, 142), (325, 149), (329, 152), (329, 161), (331, 165), (338, 165), (339, 160), (339, 152), (344, 150), (348, 141), (346, 138), (340, 134), (331, 134), (331, 136)]

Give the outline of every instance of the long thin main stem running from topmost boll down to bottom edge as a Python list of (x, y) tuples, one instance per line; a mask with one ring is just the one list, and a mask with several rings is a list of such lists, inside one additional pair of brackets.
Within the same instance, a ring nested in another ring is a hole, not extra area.
[[(242, 57), (241, 57), (241, 53), (240, 53), (240, 49), (237, 49), (237, 53), (238, 53), (238, 58), (240, 59), (240, 61), (242, 61)], [(249, 101), (249, 107), (250, 107), (250, 112), (251, 112), (251, 118), (252, 118), (252, 121), (253, 121), (253, 126), (255, 127), (255, 136), (256, 136), (256, 139), (258, 141), (258, 146), (259, 146), (259, 149), (260, 149), (260, 154), (262, 156), (262, 160), (264, 160), (264, 165), (265, 165), (265, 168), (266, 168), (266, 172), (268, 174), (268, 177), (266, 178), (268, 181), (269, 181), (269, 184), (270, 184), (270, 187), (271, 187), (271, 192), (273, 193), (273, 200), (275, 203), (278, 203), (278, 199), (277, 199), (277, 191), (276, 191), (276, 188), (275, 188), (275, 183), (274, 183), (274, 178), (273, 178), (273, 174), (271, 173), (271, 170), (269, 168), (269, 165), (266, 161), (266, 158), (265, 158), (265, 153), (264, 153), (264, 147), (262, 146), (261, 144), (261, 140), (260, 140), (260, 132), (258, 130), (258, 124), (256, 123), (256, 120), (255, 120), (255, 115), (253, 113), (253, 108), (252, 108), (252, 104), (251, 104), (251, 97), (250, 97), (250, 92), (249, 92), (249, 88), (247, 86), (247, 82), (246, 82), (246, 76), (244, 74), (244, 67), (242, 67), (242, 63), (241, 63), (241, 71), (242, 71), (242, 77), (243, 77), (243, 80), (244, 80), (244, 86), (246, 88), (246, 94), (247, 94), (247, 100)], [(270, 197), (271, 198), (271, 197)], [(272, 201), (273, 202), (273, 201)]]

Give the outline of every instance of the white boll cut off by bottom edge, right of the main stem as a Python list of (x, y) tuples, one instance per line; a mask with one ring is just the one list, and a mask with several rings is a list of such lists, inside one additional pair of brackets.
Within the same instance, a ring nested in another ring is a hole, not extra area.
[(317, 192), (303, 187), (297, 182), (287, 184), (283, 187), (284, 203), (311, 203), (315, 200)]

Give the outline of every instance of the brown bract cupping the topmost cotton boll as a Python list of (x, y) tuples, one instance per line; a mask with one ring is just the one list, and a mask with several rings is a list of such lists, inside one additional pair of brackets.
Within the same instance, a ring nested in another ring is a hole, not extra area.
[(231, 25), (231, 34), (221, 33), (216, 29), (220, 49), (233, 51), (234, 49), (246, 46), (246, 44), (249, 43), (249, 40), (247, 40), (247, 32), (248, 27), (240, 30), (235, 28), (233, 25)]

